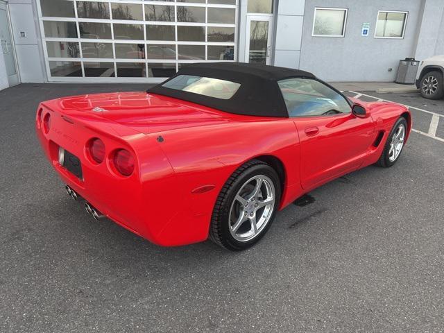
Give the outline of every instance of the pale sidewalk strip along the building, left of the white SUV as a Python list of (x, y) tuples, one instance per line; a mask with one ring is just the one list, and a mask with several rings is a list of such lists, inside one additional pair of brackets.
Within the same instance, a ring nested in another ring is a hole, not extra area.
[(415, 85), (401, 85), (394, 82), (329, 82), (338, 90), (354, 92), (417, 92)]

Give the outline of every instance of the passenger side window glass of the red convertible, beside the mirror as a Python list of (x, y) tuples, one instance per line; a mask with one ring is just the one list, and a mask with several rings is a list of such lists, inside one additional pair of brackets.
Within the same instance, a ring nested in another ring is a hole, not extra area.
[(290, 78), (280, 80), (279, 87), (290, 117), (327, 116), (351, 111), (341, 94), (319, 81)]

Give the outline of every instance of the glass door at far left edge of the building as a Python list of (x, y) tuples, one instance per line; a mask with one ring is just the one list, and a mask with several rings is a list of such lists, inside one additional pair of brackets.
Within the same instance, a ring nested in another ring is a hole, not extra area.
[(8, 75), (9, 86), (19, 84), (19, 76), (15, 67), (14, 46), (9, 29), (9, 17), (6, 3), (0, 1), (0, 51), (6, 65), (6, 74)]

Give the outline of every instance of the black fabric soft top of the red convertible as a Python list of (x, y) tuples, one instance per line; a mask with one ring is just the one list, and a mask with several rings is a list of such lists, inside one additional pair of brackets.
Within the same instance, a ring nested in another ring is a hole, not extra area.
[[(170, 89), (162, 85), (180, 75), (219, 78), (241, 86), (231, 99)], [(146, 92), (182, 99), (235, 114), (262, 117), (289, 117), (278, 80), (284, 78), (315, 78), (307, 71), (284, 67), (247, 64), (244, 62), (200, 62), (182, 67), (175, 76)]]

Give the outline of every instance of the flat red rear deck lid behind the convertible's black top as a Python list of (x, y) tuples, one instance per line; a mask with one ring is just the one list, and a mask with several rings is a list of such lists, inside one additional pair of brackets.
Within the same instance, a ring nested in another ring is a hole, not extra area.
[(65, 114), (75, 116), (81, 112), (83, 115), (94, 115), (145, 134), (225, 122), (234, 116), (194, 103), (146, 92), (87, 94), (69, 96), (56, 101), (58, 110)]

